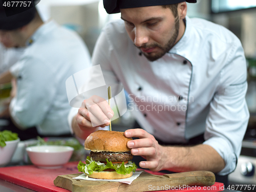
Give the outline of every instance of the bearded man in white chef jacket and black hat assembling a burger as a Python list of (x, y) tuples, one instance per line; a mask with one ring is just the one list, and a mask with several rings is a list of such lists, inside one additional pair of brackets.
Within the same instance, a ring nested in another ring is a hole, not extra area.
[[(93, 64), (100, 64), (106, 84), (121, 82), (138, 106), (131, 111), (143, 129), (125, 136), (139, 138), (127, 147), (146, 159), (140, 167), (206, 170), (227, 184), (249, 117), (245, 56), (230, 31), (187, 17), (186, 2), (105, 0), (106, 11), (120, 11), (123, 21), (103, 29)], [(99, 129), (93, 118), (104, 127), (113, 115), (108, 102), (91, 97), (73, 118), (73, 131), (86, 138)]]

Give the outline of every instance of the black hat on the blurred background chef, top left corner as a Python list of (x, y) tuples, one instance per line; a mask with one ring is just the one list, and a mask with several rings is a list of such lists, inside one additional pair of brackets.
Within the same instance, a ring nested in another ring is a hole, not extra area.
[[(16, 2), (19, 2), (19, 4)], [(16, 2), (13, 4), (12, 1), (0, 0), (0, 30), (18, 29), (27, 25), (35, 17), (36, 9), (34, 0)], [(20, 2), (23, 2), (23, 4)], [(30, 5), (29, 2), (31, 2)], [(20, 7), (20, 5), (22, 6)]]

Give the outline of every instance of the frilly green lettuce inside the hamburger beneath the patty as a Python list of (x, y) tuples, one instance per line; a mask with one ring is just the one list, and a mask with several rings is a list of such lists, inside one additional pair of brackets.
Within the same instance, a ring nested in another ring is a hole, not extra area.
[(79, 172), (86, 173), (88, 175), (91, 175), (93, 172), (101, 172), (106, 169), (113, 169), (118, 174), (126, 175), (130, 174), (132, 171), (135, 172), (137, 169), (137, 165), (132, 161), (128, 161), (128, 163), (126, 164), (122, 162), (121, 165), (113, 165), (113, 163), (108, 161), (108, 159), (106, 159), (106, 164), (104, 164), (99, 161), (94, 161), (88, 156), (86, 158), (86, 164), (80, 161), (77, 165), (77, 169)]

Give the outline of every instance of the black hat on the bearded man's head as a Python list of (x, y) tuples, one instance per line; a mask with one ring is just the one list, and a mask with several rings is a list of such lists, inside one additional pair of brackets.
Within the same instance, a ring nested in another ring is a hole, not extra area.
[(197, 3), (197, 0), (103, 0), (107, 13), (119, 13), (120, 9), (178, 4), (181, 2)]

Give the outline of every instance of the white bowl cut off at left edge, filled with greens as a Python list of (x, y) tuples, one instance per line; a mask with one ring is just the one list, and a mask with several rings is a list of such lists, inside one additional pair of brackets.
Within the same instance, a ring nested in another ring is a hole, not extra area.
[(19, 138), (16, 140), (5, 141), (6, 146), (3, 148), (0, 147), (0, 166), (4, 166), (11, 161), (18, 142)]

